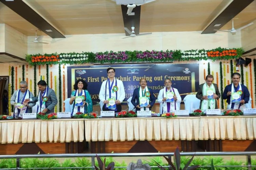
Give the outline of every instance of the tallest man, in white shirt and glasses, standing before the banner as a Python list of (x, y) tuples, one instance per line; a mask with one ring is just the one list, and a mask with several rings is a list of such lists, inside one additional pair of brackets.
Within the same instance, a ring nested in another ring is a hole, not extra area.
[(102, 82), (99, 98), (103, 102), (103, 111), (122, 111), (121, 103), (125, 99), (125, 88), (121, 80), (115, 78), (115, 69), (108, 68), (108, 79)]

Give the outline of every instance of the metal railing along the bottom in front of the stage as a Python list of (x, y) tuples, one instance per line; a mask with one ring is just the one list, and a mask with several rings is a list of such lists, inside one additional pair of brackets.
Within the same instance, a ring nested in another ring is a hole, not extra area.
[[(168, 156), (172, 157), (174, 155), (173, 152), (166, 153), (98, 153), (100, 157), (152, 157), (152, 156)], [(253, 167), (251, 164), (251, 156), (256, 155), (256, 152), (181, 152), (181, 156), (246, 156), (247, 165), (241, 166), (214, 166), (214, 167), (247, 167), (251, 170)], [(12, 169), (28, 169), (28, 168), (20, 168), (20, 159), (22, 158), (74, 158), (74, 157), (91, 157), (91, 166), (90, 167), (65, 167), (65, 168), (50, 168), (50, 169), (92, 169), (95, 168), (95, 158), (96, 154), (27, 154), (27, 155), (0, 155), (0, 159), (16, 159), (16, 168)], [(169, 167), (170, 166), (166, 166)], [(201, 166), (205, 167), (205, 166)], [(211, 167), (206, 166), (206, 167)], [(126, 167), (115, 167), (115, 168), (126, 168)], [(152, 167), (154, 168), (154, 167)], [(10, 169), (10, 168), (9, 168)], [(29, 169), (48, 169), (48, 168), (29, 168)]]

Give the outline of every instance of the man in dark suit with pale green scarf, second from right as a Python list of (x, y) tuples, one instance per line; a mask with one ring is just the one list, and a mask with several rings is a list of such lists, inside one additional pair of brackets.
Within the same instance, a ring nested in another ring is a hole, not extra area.
[(217, 100), (221, 97), (217, 84), (213, 82), (213, 75), (209, 74), (205, 78), (205, 83), (200, 84), (196, 97), (200, 100), (200, 109), (217, 109)]

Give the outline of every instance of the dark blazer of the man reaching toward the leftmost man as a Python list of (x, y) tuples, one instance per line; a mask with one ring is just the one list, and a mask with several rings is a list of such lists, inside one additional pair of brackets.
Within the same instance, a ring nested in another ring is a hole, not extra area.
[[(45, 102), (45, 107), (48, 109), (46, 114), (54, 112), (54, 107), (57, 105), (58, 100), (55, 95), (55, 92), (53, 89), (48, 88), (48, 94), (47, 94), (48, 100)], [(37, 102), (38, 101), (38, 96), (31, 98), (32, 102)]]

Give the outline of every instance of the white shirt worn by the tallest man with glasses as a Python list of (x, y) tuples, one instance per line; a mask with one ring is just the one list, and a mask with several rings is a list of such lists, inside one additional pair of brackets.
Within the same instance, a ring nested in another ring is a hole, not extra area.
[[(107, 83), (108, 80), (105, 80), (104, 82), (102, 82), (101, 84), (101, 87), (100, 87), (100, 94), (99, 94), (99, 98), (100, 98), (100, 101), (101, 102), (104, 102), (105, 100), (108, 100), (108, 99), (105, 99), (105, 88), (106, 88), (106, 83)], [(120, 103), (123, 102), (123, 100), (125, 99), (125, 88), (124, 88), (124, 84), (121, 80), (118, 80), (116, 79), (116, 83), (117, 83), (117, 87), (118, 87), (118, 90), (117, 90), (117, 99), (116, 100), (119, 100)], [(114, 84), (115, 85), (115, 84)], [(113, 85), (113, 86), (114, 86)]]

